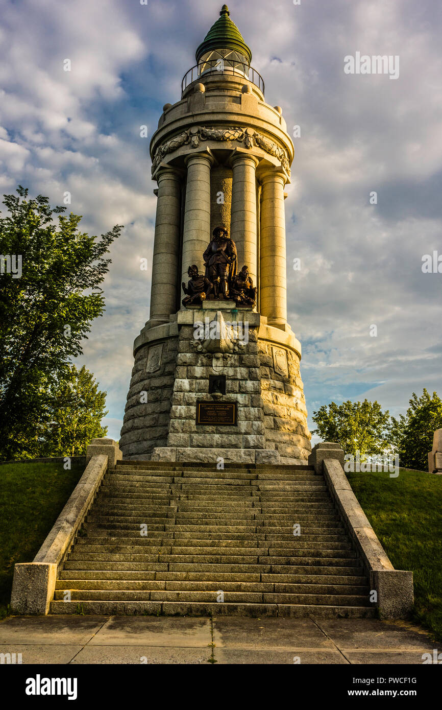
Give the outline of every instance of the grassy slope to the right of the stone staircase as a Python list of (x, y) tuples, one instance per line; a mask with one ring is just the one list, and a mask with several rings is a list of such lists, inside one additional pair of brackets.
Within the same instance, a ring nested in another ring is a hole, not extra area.
[(414, 618), (442, 640), (442, 476), (400, 469), (349, 473), (350, 486), (395, 569), (411, 569)]

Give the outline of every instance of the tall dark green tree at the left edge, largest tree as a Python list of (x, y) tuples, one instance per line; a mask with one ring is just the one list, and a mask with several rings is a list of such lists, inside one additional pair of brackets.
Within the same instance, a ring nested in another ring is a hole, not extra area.
[(0, 254), (22, 260), (20, 278), (5, 268), (0, 275), (0, 459), (35, 456), (51, 390), (69, 376), (70, 358), (104, 312), (105, 256), (122, 229), (97, 239), (79, 231), (81, 217), (60, 214), (65, 207), (17, 192), (4, 195), (0, 219)]

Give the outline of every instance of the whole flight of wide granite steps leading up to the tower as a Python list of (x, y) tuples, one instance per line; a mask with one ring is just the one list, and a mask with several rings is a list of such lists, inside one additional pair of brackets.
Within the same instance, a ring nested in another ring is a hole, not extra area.
[(106, 474), (50, 611), (375, 615), (358, 554), (311, 466), (150, 461), (119, 461)]

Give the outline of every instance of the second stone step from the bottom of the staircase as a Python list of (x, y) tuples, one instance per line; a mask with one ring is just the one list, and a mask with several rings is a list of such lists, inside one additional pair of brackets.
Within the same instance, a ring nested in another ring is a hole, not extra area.
[[(224, 591), (224, 590), (222, 590)], [(214, 591), (167, 591), (155, 590), (109, 590), (72, 589), (72, 601), (211, 601), (216, 602), (219, 592)], [(64, 592), (56, 589), (55, 601), (62, 600)], [(223, 603), (294, 603), (307, 605), (368, 606), (368, 595), (358, 594), (276, 594), (275, 592), (224, 591)], [(66, 602), (65, 602), (66, 603)]]

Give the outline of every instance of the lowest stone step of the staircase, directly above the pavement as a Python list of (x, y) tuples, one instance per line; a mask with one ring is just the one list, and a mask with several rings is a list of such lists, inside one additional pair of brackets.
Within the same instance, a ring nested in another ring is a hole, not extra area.
[(75, 614), (152, 614), (154, 616), (282, 616), (305, 618), (374, 618), (375, 608), (365, 606), (315, 606), (306, 604), (249, 604), (160, 601), (53, 601), (50, 613)]

